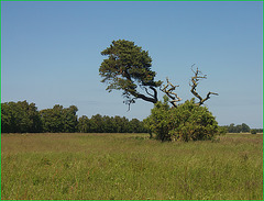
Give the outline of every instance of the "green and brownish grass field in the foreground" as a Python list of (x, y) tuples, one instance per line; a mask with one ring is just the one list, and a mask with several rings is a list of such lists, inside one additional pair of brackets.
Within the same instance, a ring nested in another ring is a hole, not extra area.
[(263, 135), (2, 134), (2, 200), (262, 200)]

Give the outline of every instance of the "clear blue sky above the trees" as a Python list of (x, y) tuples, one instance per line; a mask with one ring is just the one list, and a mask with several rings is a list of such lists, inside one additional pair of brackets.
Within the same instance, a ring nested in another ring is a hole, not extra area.
[(100, 82), (100, 53), (117, 40), (148, 51), (156, 80), (179, 85), (182, 103), (194, 97), (195, 64), (207, 75), (197, 92), (219, 93), (206, 102), (219, 125), (263, 127), (261, 1), (1, 2), (1, 102), (145, 119), (152, 103), (128, 111), (122, 92)]

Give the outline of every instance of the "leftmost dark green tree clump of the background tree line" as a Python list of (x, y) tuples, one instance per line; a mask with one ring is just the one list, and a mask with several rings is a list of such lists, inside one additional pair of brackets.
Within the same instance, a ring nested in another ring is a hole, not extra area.
[(1, 103), (2, 133), (42, 132), (42, 122), (35, 103), (26, 101)]

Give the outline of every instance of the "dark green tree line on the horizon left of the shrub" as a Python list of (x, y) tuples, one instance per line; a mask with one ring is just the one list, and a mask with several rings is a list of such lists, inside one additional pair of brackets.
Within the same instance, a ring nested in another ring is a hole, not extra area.
[(28, 101), (1, 103), (1, 133), (145, 133), (142, 121), (116, 115), (77, 116), (78, 108), (55, 104), (38, 111)]

